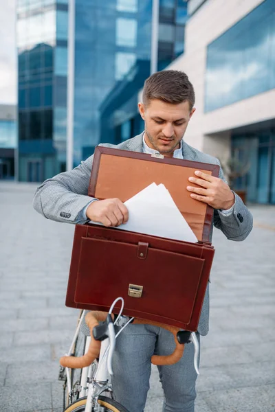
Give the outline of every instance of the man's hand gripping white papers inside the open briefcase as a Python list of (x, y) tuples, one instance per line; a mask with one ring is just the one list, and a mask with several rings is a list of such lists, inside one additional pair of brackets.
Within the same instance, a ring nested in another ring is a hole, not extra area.
[(92, 202), (86, 211), (87, 218), (104, 226), (119, 226), (129, 218), (128, 209), (120, 199)]

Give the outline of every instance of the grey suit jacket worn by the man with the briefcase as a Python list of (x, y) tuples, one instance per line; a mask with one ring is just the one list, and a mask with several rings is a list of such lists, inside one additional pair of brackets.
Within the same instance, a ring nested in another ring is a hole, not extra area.
[[(118, 145), (101, 144), (100, 146), (142, 152), (142, 135), (143, 133)], [(183, 142), (182, 150), (186, 160), (219, 164), (218, 159), (199, 152), (199, 150), (192, 148), (185, 142)], [(93, 161), (94, 155), (82, 161), (74, 170), (57, 174), (52, 179), (47, 179), (42, 183), (34, 194), (34, 209), (48, 219), (84, 224), (87, 220), (83, 218), (83, 208), (91, 201), (87, 193)], [(225, 180), (222, 170), (219, 177)], [(230, 216), (223, 216), (219, 210), (215, 209), (212, 228), (213, 225), (221, 229), (229, 240), (244, 240), (252, 230), (252, 215), (241, 201), (241, 198), (235, 194), (234, 212)], [(198, 326), (199, 334), (206, 335), (208, 333), (208, 322), (209, 284), (201, 310)]]

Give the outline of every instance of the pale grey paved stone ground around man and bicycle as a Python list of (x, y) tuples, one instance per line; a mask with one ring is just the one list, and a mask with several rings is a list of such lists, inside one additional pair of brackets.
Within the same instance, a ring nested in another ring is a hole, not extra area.
[[(58, 358), (78, 315), (65, 308), (74, 226), (37, 214), (35, 187), (0, 183), (0, 412), (62, 411)], [(250, 209), (245, 242), (214, 233), (196, 412), (275, 411), (275, 207)], [(154, 368), (146, 412), (161, 404)]]

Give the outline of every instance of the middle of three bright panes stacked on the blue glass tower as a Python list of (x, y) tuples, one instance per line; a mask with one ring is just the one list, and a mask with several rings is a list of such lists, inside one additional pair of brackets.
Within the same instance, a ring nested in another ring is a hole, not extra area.
[(137, 21), (135, 19), (116, 19), (117, 46), (135, 47), (137, 44)]

